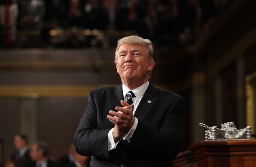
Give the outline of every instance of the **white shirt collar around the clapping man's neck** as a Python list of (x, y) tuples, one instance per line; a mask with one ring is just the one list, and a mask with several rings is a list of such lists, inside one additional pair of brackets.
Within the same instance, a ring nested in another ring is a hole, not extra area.
[(145, 82), (143, 85), (135, 88), (134, 90), (131, 90), (125, 84), (122, 84), (124, 98), (128, 91), (132, 91), (135, 94), (137, 100), (140, 102), (145, 91), (147, 90), (148, 85), (149, 85), (149, 82), (147, 80), (147, 82)]

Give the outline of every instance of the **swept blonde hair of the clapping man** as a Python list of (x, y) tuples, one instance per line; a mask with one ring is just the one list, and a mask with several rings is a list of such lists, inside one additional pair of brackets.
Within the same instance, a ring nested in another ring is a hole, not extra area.
[[(124, 44), (124, 43), (128, 43), (128, 44), (140, 44), (140, 45), (144, 45), (147, 48), (147, 56), (148, 56), (148, 61), (150, 63), (153, 63), (153, 65), (155, 66), (155, 61), (153, 58), (153, 44), (149, 39), (144, 39), (141, 38), (138, 35), (131, 35), (131, 36), (126, 36), (124, 38), (121, 38), (117, 41), (117, 46), (116, 46), (116, 52), (115, 52), (115, 58), (114, 58), (114, 62), (116, 62), (117, 60), (117, 56), (118, 56), (118, 49), (119, 47)], [(149, 73), (149, 77), (151, 76), (152, 71), (150, 71)]]

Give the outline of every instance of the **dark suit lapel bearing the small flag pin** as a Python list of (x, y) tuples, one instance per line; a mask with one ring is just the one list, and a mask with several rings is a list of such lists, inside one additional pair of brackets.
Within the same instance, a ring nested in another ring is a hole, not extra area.
[[(149, 86), (147, 90), (145, 91), (142, 99), (140, 100), (140, 103), (136, 109), (136, 112), (134, 116), (138, 118), (139, 120), (144, 121), (147, 114), (150, 112), (156, 101), (158, 100), (157, 94), (159, 89), (156, 89), (153, 87), (151, 83), (149, 83)], [(148, 100), (150, 100), (148, 102)]]

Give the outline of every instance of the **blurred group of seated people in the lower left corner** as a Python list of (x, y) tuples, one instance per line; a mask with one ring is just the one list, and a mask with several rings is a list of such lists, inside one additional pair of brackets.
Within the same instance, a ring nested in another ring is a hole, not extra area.
[(90, 157), (79, 155), (73, 144), (59, 158), (48, 157), (48, 146), (44, 141), (35, 142), (29, 147), (25, 134), (16, 134), (13, 145), (16, 152), (7, 159), (5, 167), (89, 167), (90, 164)]

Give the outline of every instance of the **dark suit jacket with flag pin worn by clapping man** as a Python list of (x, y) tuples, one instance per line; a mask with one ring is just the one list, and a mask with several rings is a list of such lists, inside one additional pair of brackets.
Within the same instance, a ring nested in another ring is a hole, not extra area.
[(90, 167), (170, 166), (184, 140), (184, 98), (150, 83), (134, 114), (138, 124), (130, 143), (121, 140), (108, 151), (108, 133), (114, 124), (106, 116), (121, 106), (120, 100), (122, 85), (90, 91), (75, 132), (76, 151), (92, 155)]

